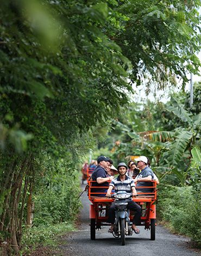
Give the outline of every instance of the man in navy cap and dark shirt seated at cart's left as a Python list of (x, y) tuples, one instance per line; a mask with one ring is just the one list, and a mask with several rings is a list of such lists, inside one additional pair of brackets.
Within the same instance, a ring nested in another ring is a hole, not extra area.
[[(108, 187), (109, 182), (114, 179), (114, 176), (109, 176), (106, 168), (110, 167), (110, 159), (108, 159), (105, 156), (99, 156), (97, 159), (97, 167), (91, 174), (91, 179), (96, 182), (92, 182), (92, 187), (96, 188), (91, 188), (91, 192), (98, 192), (99, 194), (91, 194), (91, 196), (98, 196), (98, 197), (104, 197), (106, 193), (107, 188), (101, 188), (101, 187)], [(100, 188), (99, 188), (100, 187)]]

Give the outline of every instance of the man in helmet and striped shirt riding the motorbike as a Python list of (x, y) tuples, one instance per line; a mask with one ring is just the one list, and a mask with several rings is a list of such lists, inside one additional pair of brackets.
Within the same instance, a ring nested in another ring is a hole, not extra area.
[[(126, 175), (127, 169), (128, 167), (125, 163), (122, 162), (118, 164), (117, 170), (119, 175), (117, 176), (117, 178), (113, 179), (110, 182), (110, 186), (106, 193), (106, 197), (111, 197), (112, 189), (115, 189), (115, 192), (125, 191), (127, 193), (132, 193), (133, 196), (137, 195), (137, 192), (135, 190), (134, 180)], [(127, 209), (135, 211), (135, 216), (133, 218), (133, 225), (131, 228), (134, 230), (135, 234), (139, 234), (140, 230), (136, 227), (136, 225), (140, 224), (140, 216), (141, 216), (142, 209), (138, 204), (133, 202), (132, 199), (130, 199), (130, 201), (128, 202)], [(112, 203), (108, 212), (108, 215), (109, 215), (108, 223), (111, 223), (111, 227), (108, 230), (109, 233), (112, 233), (114, 231), (115, 210), (116, 210), (115, 203)]]

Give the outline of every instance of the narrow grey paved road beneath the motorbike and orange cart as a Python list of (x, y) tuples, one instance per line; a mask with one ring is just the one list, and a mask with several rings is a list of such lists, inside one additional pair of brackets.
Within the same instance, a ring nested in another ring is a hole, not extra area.
[[(85, 185), (82, 186), (84, 190)], [(170, 234), (162, 225), (156, 226), (156, 240), (150, 241), (150, 231), (140, 227), (140, 234), (126, 237), (125, 246), (121, 246), (120, 239), (116, 239), (108, 233), (108, 227), (103, 227), (96, 232), (96, 240), (90, 240), (89, 226), (89, 199), (87, 194), (81, 197), (83, 209), (80, 214), (79, 230), (63, 237), (62, 249), (65, 256), (198, 256), (196, 251), (187, 247), (183, 236)]]

